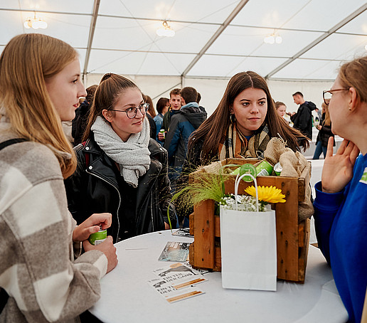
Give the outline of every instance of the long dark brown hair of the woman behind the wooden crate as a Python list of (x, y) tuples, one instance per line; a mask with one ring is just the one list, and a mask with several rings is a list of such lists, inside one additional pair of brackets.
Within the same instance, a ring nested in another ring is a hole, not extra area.
[(293, 150), (299, 149), (299, 141), (304, 149), (309, 147), (307, 137), (298, 130), (289, 127), (287, 122), (282, 120), (282, 117), (277, 114), (274, 100), (272, 100), (265, 79), (252, 71), (241, 72), (234, 75), (229, 80), (222, 100), (220, 100), (213, 114), (208, 117), (193, 134), (191, 134), (191, 138), (188, 142), (188, 150), (193, 148), (197, 140), (201, 139), (204, 141), (201, 154), (201, 162), (203, 164), (207, 164), (218, 155), (219, 141), (225, 136), (230, 126), (230, 109), (233, 107), (235, 97), (248, 88), (261, 89), (266, 94), (267, 115), (264, 122), (270, 130), (270, 137), (277, 137), (279, 134), (280, 137), (287, 142), (288, 147)]

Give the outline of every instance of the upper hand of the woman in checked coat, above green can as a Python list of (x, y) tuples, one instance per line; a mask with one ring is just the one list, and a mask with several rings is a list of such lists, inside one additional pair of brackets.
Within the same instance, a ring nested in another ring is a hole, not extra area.
[(87, 220), (81, 223), (74, 229), (73, 241), (80, 242), (87, 240), (92, 233), (96, 233), (100, 230), (100, 225), (102, 225), (102, 230), (110, 228), (112, 223), (111, 213), (95, 213), (92, 214)]

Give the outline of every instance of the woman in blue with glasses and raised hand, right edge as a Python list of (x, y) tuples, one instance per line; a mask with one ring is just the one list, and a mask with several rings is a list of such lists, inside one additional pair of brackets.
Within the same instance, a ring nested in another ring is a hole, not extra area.
[(329, 138), (314, 201), (319, 248), (352, 323), (361, 322), (367, 287), (366, 84), (364, 56), (342, 65), (331, 90), (324, 91), (324, 98), (331, 97), (331, 130), (344, 141), (333, 154), (334, 137)]

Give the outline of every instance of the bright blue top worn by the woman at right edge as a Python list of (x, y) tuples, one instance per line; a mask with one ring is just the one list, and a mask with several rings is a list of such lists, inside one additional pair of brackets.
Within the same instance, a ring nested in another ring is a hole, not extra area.
[(361, 322), (367, 287), (367, 154), (356, 160), (343, 191), (324, 193), (321, 182), (315, 188), (319, 248), (331, 265), (349, 322)]

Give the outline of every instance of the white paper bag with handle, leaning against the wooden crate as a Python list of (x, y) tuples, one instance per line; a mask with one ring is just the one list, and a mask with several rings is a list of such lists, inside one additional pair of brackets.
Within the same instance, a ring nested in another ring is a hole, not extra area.
[[(237, 189), (238, 185), (235, 193)], [(220, 206), (220, 253), (223, 288), (277, 290), (275, 211), (246, 212)]]

